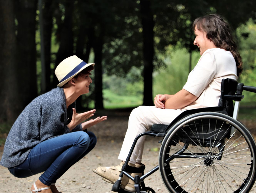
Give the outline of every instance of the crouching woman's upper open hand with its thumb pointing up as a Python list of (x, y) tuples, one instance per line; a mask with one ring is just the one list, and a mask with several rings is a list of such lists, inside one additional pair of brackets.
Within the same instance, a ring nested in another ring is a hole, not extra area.
[(92, 117), (95, 113), (96, 110), (93, 109), (91, 111), (83, 112), (83, 113), (76, 113), (76, 109), (73, 108), (73, 115), (72, 115), (72, 120), (71, 122), (67, 125), (67, 127), (72, 130), (75, 128), (78, 124), (82, 123), (86, 119)]

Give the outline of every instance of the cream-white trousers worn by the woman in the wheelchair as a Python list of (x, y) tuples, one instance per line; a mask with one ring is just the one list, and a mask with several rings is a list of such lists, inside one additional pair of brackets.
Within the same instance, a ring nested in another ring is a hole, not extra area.
[[(118, 159), (126, 160), (133, 141), (138, 134), (147, 132), (153, 124), (169, 125), (182, 112), (180, 109), (160, 109), (155, 106), (140, 106), (133, 109)], [(138, 139), (129, 161), (131, 164), (141, 163), (145, 137), (142, 136)]]

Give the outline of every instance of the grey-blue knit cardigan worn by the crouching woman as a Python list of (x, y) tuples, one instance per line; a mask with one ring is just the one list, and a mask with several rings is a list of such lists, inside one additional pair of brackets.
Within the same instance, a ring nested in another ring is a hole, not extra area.
[[(72, 108), (66, 108), (63, 88), (57, 87), (36, 97), (19, 115), (6, 139), (0, 164), (15, 167), (24, 162), (30, 150), (38, 143), (54, 138), (70, 130), (67, 124), (72, 118)], [(81, 131), (81, 124), (73, 131)]]

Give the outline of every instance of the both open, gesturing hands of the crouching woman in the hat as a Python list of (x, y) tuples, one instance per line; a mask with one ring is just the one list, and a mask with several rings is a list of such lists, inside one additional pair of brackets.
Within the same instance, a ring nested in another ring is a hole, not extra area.
[[(73, 115), (72, 115), (72, 120), (71, 122), (67, 125), (67, 127), (72, 130), (74, 129), (78, 124), (82, 123), (86, 119), (92, 117), (94, 113), (96, 112), (95, 109), (83, 113), (76, 113), (76, 109), (73, 108)], [(82, 128), (87, 129), (93, 125), (96, 125), (97, 123), (100, 123), (102, 121), (107, 120), (107, 116), (102, 116), (102, 117), (97, 117), (95, 119), (90, 119), (89, 121), (86, 121), (82, 123)]]

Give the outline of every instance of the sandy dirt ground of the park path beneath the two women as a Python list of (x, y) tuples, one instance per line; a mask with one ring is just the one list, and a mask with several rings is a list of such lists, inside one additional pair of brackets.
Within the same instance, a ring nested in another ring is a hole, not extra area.
[[(93, 126), (93, 131), (97, 136), (96, 147), (73, 165), (56, 183), (56, 187), (62, 193), (68, 192), (88, 192), (88, 193), (110, 193), (112, 184), (102, 180), (102, 178), (91, 171), (98, 166), (114, 166), (120, 163), (117, 159), (123, 138), (128, 125), (128, 117), (130, 111), (104, 111), (97, 112), (97, 116), (107, 115), (105, 122)], [(248, 122), (247, 126), (252, 128), (254, 132), (254, 122)], [(254, 135), (255, 136), (255, 135)], [(145, 172), (153, 169), (158, 165), (160, 148), (158, 141), (161, 138), (147, 136), (143, 163), (146, 165)], [(0, 149), (0, 158), (3, 154), (3, 148)], [(28, 178), (15, 178), (7, 168), (0, 166), (0, 192), (30, 192), (30, 187), (40, 174)], [(168, 192), (162, 182), (159, 171), (150, 175), (144, 180), (145, 185), (153, 188), (157, 193)], [(251, 192), (256, 192), (256, 185), (253, 186)]]

